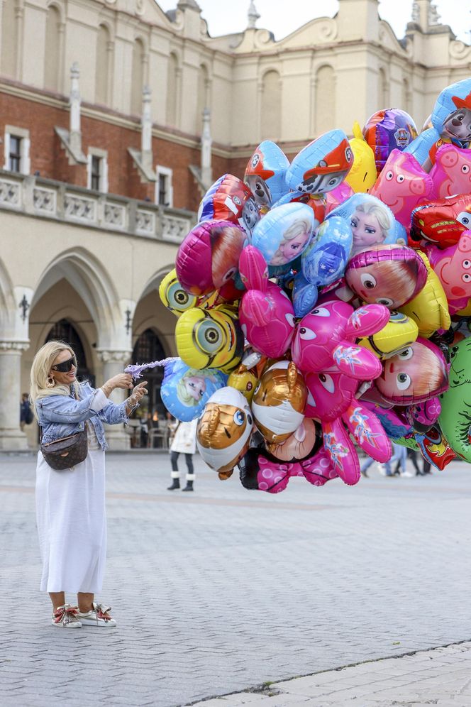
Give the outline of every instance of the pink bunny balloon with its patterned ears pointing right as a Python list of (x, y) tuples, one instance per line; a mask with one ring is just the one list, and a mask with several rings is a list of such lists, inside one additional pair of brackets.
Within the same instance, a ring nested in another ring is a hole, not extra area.
[(301, 371), (325, 371), (337, 366), (353, 378), (372, 380), (381, 373), (381, 363), (356, 344), (372, 336), (389, 322), (384, 305), (353, 309), (346, 302), (324, 302), (299, 322), (291, 347), (292, 359)]

